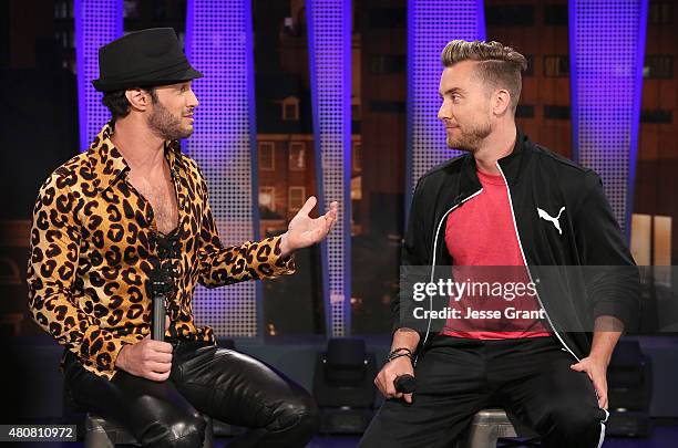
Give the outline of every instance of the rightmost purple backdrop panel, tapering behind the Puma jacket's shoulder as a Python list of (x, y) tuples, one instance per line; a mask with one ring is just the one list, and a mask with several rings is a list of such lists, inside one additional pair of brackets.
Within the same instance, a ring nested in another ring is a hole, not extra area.
[(596, 170), (627, 239), (648, 0), (571, 0), (573, 158)]

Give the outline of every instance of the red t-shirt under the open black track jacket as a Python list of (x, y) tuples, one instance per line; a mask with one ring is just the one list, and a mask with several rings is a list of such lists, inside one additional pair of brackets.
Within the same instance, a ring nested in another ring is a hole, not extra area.
[[(480, 340), (548, 336), (546, 326), (535, 319), (541, 308), (535, 290), (527, 286), (530, 275), (515, 233), (504, 179), (501, 175), (481, 171), (477, 177), (483, 190), (452, 211), (445, 225), (445, 244), (454, 260), (454, 281), (465, 282), (468, 286), (465, 293), (451, 298), (450, 308), (459, 310), (459, 314), (448, 320), (442, 334)], [(472, 283), (475, 284), (472, 286)], [(525, 286), (518, 291), (515, 284)], [(477, 313), (470, 314), (470, 309)], [(480, 317), (483, 312), (484, 316)]]

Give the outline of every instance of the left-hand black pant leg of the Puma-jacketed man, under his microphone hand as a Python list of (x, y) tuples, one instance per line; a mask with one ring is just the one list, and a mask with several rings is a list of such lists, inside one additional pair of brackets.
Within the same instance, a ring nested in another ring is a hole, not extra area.
[(436, 337), (414, 371), (413, 403), (386, 400), (359, 447), (451, 447), (492, 397), (483, 352), (482, 341)]

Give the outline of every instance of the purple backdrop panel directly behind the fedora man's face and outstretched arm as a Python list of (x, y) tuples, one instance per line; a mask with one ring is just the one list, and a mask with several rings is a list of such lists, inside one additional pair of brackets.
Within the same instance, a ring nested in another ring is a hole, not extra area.
[[(222, 242), (239, 244), (258, 228), (251, 2), (188, 0), (186, 8), (186, 55), (205, 76), (193, 83), (199, 106), (185, 148), (206, 178)], [(196, 320), (218, 336), (260, 335), (257, 288), (198, 286)]]

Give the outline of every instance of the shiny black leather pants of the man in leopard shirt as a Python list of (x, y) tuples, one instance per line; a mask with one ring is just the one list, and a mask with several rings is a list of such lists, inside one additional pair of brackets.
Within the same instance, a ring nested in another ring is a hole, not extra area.
[(64, 373), (73, 400), (123, 425), (144, 447), (202, 447), (205, 420), (196, 409), (251, 428), (229, 447), (304, 447), (317, 431), (314, 399), (273, 367), (206, 342), (173, 345), (163, 383), (123, 371), (109, 382), (69, 354)]

